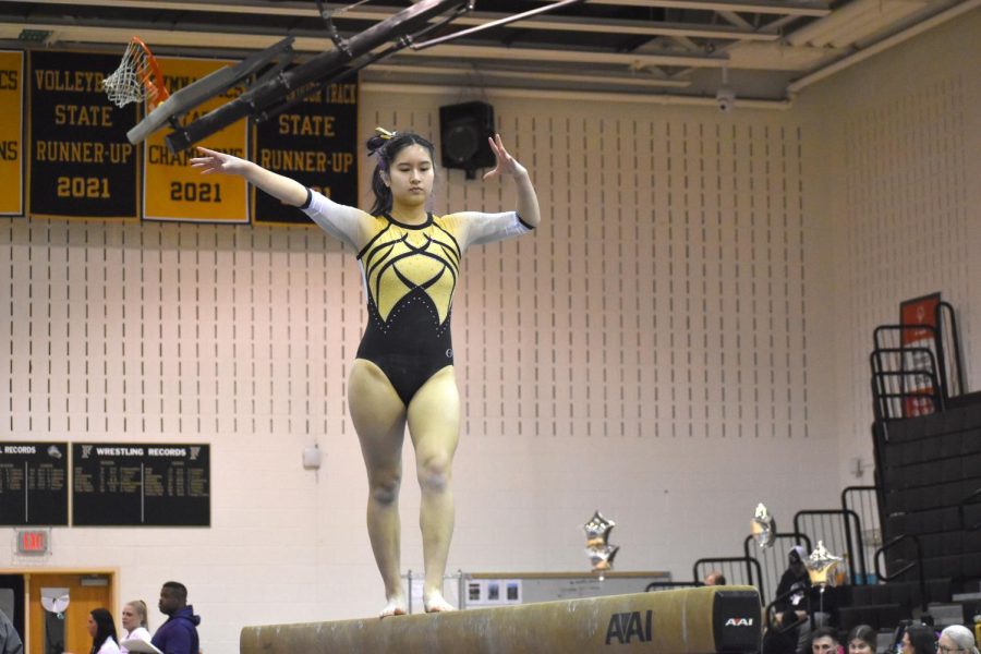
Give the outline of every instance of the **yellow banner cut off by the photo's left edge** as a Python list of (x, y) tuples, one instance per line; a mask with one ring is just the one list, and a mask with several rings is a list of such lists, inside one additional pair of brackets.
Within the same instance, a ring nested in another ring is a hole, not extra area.
[(24, 214), (24, 53), (0, 52), (0, 216)]

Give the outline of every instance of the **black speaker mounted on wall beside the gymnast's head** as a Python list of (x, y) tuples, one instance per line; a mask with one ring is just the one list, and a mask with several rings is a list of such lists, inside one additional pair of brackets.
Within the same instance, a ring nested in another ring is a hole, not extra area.
[(476, 177), (477, 168), (494, 166), (494, 150), (487, 137), (494, 135), (494, 107), (487, 102), (463, 102), (439, 108), (439, 154), (444, 168), (467, 171)]

